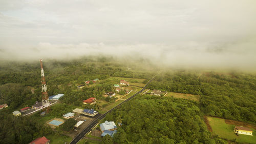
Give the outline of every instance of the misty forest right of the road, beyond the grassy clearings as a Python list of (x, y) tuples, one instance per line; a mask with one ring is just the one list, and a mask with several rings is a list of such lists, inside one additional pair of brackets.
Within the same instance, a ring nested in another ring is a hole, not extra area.
[(256, 123), (256, 76), (245, 73), (169, 71), (150, 89), (196, 94), (201, 110), (211, 116)]

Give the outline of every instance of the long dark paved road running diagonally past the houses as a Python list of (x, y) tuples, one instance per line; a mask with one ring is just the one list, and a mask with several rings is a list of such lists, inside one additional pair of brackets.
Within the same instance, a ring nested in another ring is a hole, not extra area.
[[(154, 76), (150, 81), (147, 82), (147, 84), (145, 85), (145, 87), (143, 87), (140, 91), (138, 91), (136, 94), (134, 94), (133, 96), (127, 98), (126, 100), (124, 100), (123, 102), (129, 101), (131, 100), (134, 96), (136, 96), (137, 94), (141, 93), (142, 91), (144, 91), (147, 87), (147, 85), (155, 78), (156, 76)], [(117, 105), (116, 107), (120, 106), (123, 104), (123, 102), (121, 102), (119, 105)], [(82, 137), (84, 135), (86, 135), (88, 132), (91, 131), (91, 129), (98, 123), (98, 121), (100, 119), (103, 119), (106, 114), (112, 112), (116, 107), (114, 107), (113, 109), (109, 110), (108, 112), (100, 115), (99, 117), (97, 117), (96, 119), (94, 119), (90, 125), (88, 125), (86, 128), (84, 128), (71, 142), (70, 144), (76, 144), (80, 139), (82, 139)]]

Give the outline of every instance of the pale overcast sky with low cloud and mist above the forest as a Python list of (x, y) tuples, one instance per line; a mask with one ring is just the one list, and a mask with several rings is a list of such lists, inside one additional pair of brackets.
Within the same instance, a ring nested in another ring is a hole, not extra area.
[(256, 1), (0, 1), (0, 60), (114, 55), (256, 68)]

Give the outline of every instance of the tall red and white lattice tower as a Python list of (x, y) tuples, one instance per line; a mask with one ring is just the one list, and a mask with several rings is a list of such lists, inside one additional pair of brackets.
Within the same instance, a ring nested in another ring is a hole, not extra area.
[(41, 64), (41, 83), (42, 83), (42, 106), (47, 108), (47, 113), (49, 112), (50, 100), (47, 93), (46, 79), (44, 68), (42, 68), (42, 59), (40, 59)]

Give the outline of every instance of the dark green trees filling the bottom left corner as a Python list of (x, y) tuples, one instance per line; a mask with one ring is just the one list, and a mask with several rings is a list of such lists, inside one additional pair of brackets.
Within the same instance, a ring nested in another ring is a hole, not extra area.
[(0, 113), (0, 143), (29, 143), (34, 139), (52, 134), (49, 126), (40, 125), (33, 117), (14, 117)]

